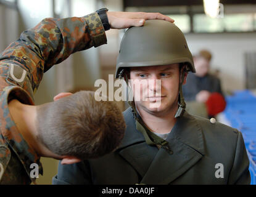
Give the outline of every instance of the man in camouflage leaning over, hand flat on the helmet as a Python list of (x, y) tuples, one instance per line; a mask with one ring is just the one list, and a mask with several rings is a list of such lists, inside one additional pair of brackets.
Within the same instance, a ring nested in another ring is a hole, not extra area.
[(106, 44), (109, 28), (142, 26), (147, 19), (173, 22), (157, 13), (106, 12), (45, 18), (0, 55), (1, 184), (35, 182), (31, 164), (43, 174), (40, 156), (72, 164), (118, 147), (125, 122), (114, 103), (96, 102), (93, 92), (60, 94), (54, 102), (34, 103), (43, 73), (74, 52)]

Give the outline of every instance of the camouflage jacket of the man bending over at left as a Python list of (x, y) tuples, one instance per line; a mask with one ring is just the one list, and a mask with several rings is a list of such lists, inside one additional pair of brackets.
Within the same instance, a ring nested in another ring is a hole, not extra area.
[(35, 28), (23, 31), (0, 55), (0, 184), (35, 182), (30, 165), (40, 157), (23, 139), (10, 116), (8, 102), (17, 99), (34, 105), (33, 95), (51, 66), (70, 54), (107, 43), (104, 27), (96, 13), (85, 17), (46, 18)]

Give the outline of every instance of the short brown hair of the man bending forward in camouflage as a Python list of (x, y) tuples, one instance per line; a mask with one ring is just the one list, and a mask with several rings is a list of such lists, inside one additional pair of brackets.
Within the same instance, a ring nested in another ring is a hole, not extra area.
[(39, 140), (53, 153), (80, 159), (103, 156), (120, 145), (125, 132), (122, 112), (114, 102), (96, 101), (80, 91), (37, 109)]

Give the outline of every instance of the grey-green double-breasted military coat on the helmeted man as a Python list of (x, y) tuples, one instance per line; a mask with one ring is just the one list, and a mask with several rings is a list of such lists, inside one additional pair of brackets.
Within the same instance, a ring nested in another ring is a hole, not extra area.
[(114, 153), (62, 165), (54, 184), (249, 184), (241, 132), (184, 113), (167, 137), (173, 154), (149, 146), (128, 108), (126, 133)]

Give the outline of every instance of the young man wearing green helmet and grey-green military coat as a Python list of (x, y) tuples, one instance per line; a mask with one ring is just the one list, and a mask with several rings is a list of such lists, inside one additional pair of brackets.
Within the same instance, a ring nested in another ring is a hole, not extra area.
[[(60, 164), (53, 183), (249, 184), (241, 132), (186, 113), (181, 87), (188, 71), (195, 71), (192, 55), (174, 24), (148, 20), (127, 30), (116, 77), (123, 77), (139, 99), (123, 113), (125, 137), (102, 158)], [(143, 81), (147, 86), (140, 85)]]

